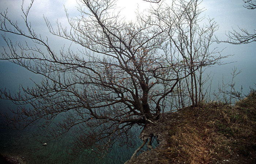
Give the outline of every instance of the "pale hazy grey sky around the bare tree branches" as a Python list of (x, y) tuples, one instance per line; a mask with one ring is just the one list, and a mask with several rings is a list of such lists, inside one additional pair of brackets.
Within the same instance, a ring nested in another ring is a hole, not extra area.
[[(28, 5), (30, 0), (25, 0), (25, 4)], [(12, 20), (18, 23), (22, 23), (22, 17), (20, 16), (22, 0), (0, 0), (0, 11), (5, 11), (8, 8), (8, 15)], [(256, 9), (248, 10), (243, 7), (244, 2), (242, 0), (204, 0), (200, 4), (201, 8), (206, 11), (204, 14), (206, 17), (215, 18), (215, 22), (219, 24), (219, 30), (217, 37), (219, 39), (227, 39), (225, 33), (232, 30), (232, 28), (238, 30), (240, 28), (246, 28), (248, 31), (253, 32), (256, 29)], [(45, 26), (43, 15), (46, 16), (51, 23), (58, 19), (59, 22), (65, 25), (67, 19), (64, 12), (64, 6), (68, 9), (70, 16), (77, 16), (79, 12), (76, 10), (77, 5), (75, 0), (34, 0), (33, 7), (30, 11), (30, 22), (33, 28), (42, 35), (47, 35), (51, 38), (48, 33), (48, 28)], [(140, 9), (147, 8), (149, 3), (142, 0), (119, 0), (118, 7), (120, 7), (121, 14), (125, 16), (127, 20), (135, 18), (135, 11), (139, 7)], [(3, 33), (1, 33), (3, 34)], [(14, 37), (10, 35), (10, 37)], [(61, 47), (62, 44), (56, 44), (59, 42), (60, 38), (53, 37), (52, 42), (55, 47)], [(0, 38), (0, 44), (5, 46), (4, 41)], [(256, 83), (256, 42), (247, 45), (230, 45), (228, 43), (215, 44), (219, 49), (223, 49), (222, 55), (234, 54), (233, 57), (226, 59), (227, 62), (236, 61), (236, 63), (230, 65), (223, 65), (214, 67), (211, 71), (215, 74), (216, 78), (222, 77), (222, 75), (227, 76), (231, 72), (233, 66), (237, 66), (237, 69), (242, 69), (242, 75), (238, 76), (237, 85), (245, 85), (245, 88), (249, 86), (254, 86)], [(0, 49), (3, 51), (3, 48)], [(0, 61), (0, 68), (7, 67), (6, 62)], [(9, 70), (9, 71), (8, 71)], [(19, 83), (19, 79), (24, 78), (23, 76), (14, 75), (15, 72), (19, 71), (26, 72), (19, 67), (12, 67), (12, 73), (10, 69), (0, 71), (0, 88), (5, 87), (7, 79), (16, 79), (16, 81), (10, 81), (10, 83)], [(19, 74), (19, 73), (18, 73)], [(27, 77), (27, 76), (26, 76)], [(222, 79), (219, 79), (222, 80)], [(3, 82), (5, 81), (5, 82)], [(2, 83), (2, 84), (1, 84)], [(217, 82), (215, 82), (217, 83)], [(16, 84), (15, 84), (16, 85)]]

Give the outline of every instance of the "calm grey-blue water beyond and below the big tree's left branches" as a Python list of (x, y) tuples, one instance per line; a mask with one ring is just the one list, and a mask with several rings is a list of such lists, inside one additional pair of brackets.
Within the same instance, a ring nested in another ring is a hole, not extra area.
[[(23, 87), (33, 86), (29, 78), (35, 82), (40, 81), (39, 75), (34, 75), (10, 62), (0, 62), (0, 77), (0, 88), (10, 89), (11, 93), (19, 91), (19, 84)], [(16, 106), (10, 101), (0, 99), (1, 113), (12, 114), (8, 108), (15, 109)], [(0, 117), (1, 121), (3, 118)], [(27, 127), (25, 130), (0, 129), (0, 153), (24, 157), (28, 164), (122, 164), (131, 158), (136, 149), (115, 146), (104, 159), (84, 159), (80, 156), (76, 161), (68, 161), (67, 152), (72, 146), (70, 136), (67, 135), (60, 141), (50, 141), (47, 146), (42, 146), (37, 138), (32, 137), (32, 131), (36, 130), (37, 126)], [(139, 138), (138, 144), (141, 144)]]

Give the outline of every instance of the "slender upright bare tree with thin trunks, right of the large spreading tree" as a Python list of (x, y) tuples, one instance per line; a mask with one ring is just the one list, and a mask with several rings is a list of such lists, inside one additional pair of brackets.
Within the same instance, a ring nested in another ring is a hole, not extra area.
[(168, 31), (169, 48), (165, 49), (165, 55), (171, 54), (174, 61), (188, 65), (185, 71), (177, 72), (180, 77), (186, 76), (185, 79), (179, 80), (175, 90), (178, 99), (175, 104), (179, 108), (185, 104), (198, 106), (204, 99), (203, 84), (207, 80), (202, 79), (204, 69), (221, 64), (220, 60), (228, 57), (221, 56), (221, 51), (217, 48), (210, 49), (213, 43), (212, 36), (218, 30), (218, 25), (213, 19), (208, 19), (208, 23), (202, 23), (206, 18), (201, 17), (203, 11), (199, 9), (199, 5), (198, 0), (177, 3), (174, 1), (172, 6), (151, 10), (152, 14), (165, 24)]

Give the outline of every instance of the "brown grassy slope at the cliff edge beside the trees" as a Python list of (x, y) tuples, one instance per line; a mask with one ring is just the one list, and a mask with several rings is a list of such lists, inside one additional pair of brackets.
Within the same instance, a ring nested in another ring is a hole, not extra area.
[(256, 92), (233, 107), (213, 102), (166, 114), (148, 131), (162, 144), (129, 164), (255, 164)]

